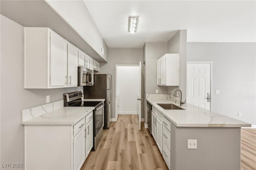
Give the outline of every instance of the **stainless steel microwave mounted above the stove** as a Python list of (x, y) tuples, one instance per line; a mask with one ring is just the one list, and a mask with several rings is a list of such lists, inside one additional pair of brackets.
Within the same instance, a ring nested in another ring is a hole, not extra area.
[(93, 71), (78, 67), (78, 86), (93, 85)]

